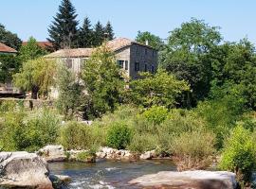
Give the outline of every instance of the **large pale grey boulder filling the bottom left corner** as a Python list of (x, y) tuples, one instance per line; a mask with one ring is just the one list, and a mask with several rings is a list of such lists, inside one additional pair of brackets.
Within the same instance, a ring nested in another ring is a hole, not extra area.
[(53, 189), (48, 173), (35, 153), (0, 152), (0, 188)]

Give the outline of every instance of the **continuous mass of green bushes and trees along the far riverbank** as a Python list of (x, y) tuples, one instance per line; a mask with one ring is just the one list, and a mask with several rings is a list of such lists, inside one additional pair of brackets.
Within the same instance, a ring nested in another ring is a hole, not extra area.
[(0, 149), (155, 149), (159, 157), (172, 157), (178, 170), (206, 169), (221, 157), (219, 169), (249, 182), (256, 164), (255, 46), (247, 39), (224, 42), (218, 27), (196, 19), (171, 31), (168, 43), (139, 32), (137, 41), (145, 39), (159, 49), (159, 68), (136, 80), (124, 77), (105, 44), (79, 76), (28, 58), (14, 75), (17, 86), (36, 98), (56, 84), (59, 98), (33, 110), (0, 101)]

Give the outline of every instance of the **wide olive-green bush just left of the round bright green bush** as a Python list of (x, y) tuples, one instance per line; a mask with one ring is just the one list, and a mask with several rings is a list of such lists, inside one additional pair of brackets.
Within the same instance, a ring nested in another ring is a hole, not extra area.
[(101, 146), (104, 130), (83, 123), (67, 122), (61, 129), (60, 143), (65, 149), (91, 149)]

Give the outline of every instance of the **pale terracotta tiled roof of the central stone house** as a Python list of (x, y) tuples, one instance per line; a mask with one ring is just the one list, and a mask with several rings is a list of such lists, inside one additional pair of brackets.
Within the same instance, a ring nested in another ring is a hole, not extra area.
[[(126, 46), (130, 46), (133, 43), (136, 43), (138, 45), (147, 46), (149, 48), (152, 48), (151, 46), (137, 43), (135, 41), (126, 39), (126, 38), (117, 38), (115, 40), (109, 41), (106, 43), (106, 45), (112, 50), (112, 51), (118, 51), (121, 48), (124, 48)], [(74, 48), (74, 49), (61, 49), (54, 53), (51, 53), (49, 55), (46, 55), (46, 58), (65, 58), (65, 57), (90, 57), (93, 52), (93, 48)]]

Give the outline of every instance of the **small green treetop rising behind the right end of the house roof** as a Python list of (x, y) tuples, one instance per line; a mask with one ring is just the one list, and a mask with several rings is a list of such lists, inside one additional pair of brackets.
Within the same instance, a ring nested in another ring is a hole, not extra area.
[(138, 31), (136, 41), (138, 43), (143, 43), (143, 44), (146, 44), (146, 42), (148, 42), (148, 44), (153, 48), (155, 48), (156, 50), (161, 50), (165, 45), (161, 40), (161, 38), (159, 38), (158, 36), (155, 36), (149, 31), (145, 31), (145, 32)]

